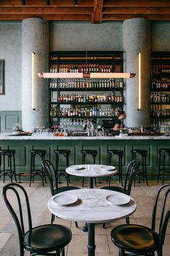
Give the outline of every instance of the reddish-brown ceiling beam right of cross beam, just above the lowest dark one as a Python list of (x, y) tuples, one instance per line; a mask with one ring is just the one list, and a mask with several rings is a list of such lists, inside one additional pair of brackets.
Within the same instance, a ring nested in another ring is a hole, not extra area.
[(104, 7), (103, 14), (170, 14), (170, 7)]

